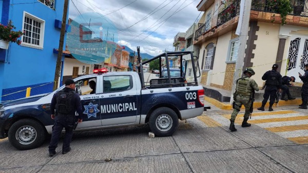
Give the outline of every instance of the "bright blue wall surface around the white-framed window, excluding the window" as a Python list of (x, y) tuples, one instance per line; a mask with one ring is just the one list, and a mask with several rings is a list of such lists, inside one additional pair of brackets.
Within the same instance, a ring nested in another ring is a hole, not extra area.
[[(12, 2), (14, 4), (9, 6), (8, 20), (12, 20), (16, 30), (22, 30), (24, 11), (45, 20), (44, 45), (43, 49), (35, 49), (10, 43), (6, 51), (6, 62), (0, 62), (0, 78), (3, 79), (2, 85), (0, 84), (2, 101), (25, 97), (25, 92), (18, 91), (27, 87), (35, 87), (31, 90), (31, 95), (52, 92), (57, 59), (53, 49), (59, 48), (60, 39), (60, 29), (54, 28), (54, 22), (55, 19), (62, 20), (64, 5), (63, 1), (55, 1), (56, 10), (53, 10), (37, 0)], [(2, 18), (4, 16), (3, 11)], [(3, 73), (2, 67), (4, 67)], [(37, 87), (38, 85), (43, 86)]]

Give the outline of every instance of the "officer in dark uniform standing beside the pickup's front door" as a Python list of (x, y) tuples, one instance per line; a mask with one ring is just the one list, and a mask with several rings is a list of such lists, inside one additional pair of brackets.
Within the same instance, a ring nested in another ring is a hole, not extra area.
[(65, 137), (63, 141), (62, 154), (67, 154), (70, 148), (70, 142), (73, 135), (75, 123), (75, 112), (78, 113), (78, 123), (82, 122), (82, 105), (79, 94), (75, 92), (75, 82), (73, 79), (65, 81), (65, 88), (55, 93), (50, 103), (51, 119), (54, 119), (52, 126), (51, 140), (49, 143), (49, 156), (55, 155), (55, 148), (63, 128), (65, 128)]

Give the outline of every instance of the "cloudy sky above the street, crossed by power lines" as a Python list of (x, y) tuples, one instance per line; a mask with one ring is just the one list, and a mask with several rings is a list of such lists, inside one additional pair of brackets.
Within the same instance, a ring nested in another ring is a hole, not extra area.
[[(71, 0), (69, 17), (97, 12), (118, 28), (118, 44), (156, 56), (172, 46), (178, 32), (186, 30), (200, 14), (201, 0)], [(200, 19), (200, 16), (198, 19)]]

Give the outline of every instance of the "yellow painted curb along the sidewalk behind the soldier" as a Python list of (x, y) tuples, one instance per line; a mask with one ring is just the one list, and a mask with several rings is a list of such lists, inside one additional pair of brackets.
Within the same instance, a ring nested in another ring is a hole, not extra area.
[[(232, 105), (220, 102), (220, 101), (218, 101), (214, 98), (204, 96), (204, 100), (206, 100), (207, 102), (215, 105), (216, 107), (218, 107), (221, 110), (232, 110)], [(288, 100), (288, 101), (279, 100), (278, 106), (299, 105), (301, 103), (302, 103), (301, 99)], [(267, 100), (265, 107), (266, 106), (268, 107), (268, 104), (269, 104), (269, 99)], [(262, 105), (262, 102), (254, 102), (254, 107), (260, 107), (261, 105)], [(274, 106), (276, 106), (276, 103), (274, 103)], [(242, 106), (242, 109), (243, 108), (244, 108), (244, 106)]]

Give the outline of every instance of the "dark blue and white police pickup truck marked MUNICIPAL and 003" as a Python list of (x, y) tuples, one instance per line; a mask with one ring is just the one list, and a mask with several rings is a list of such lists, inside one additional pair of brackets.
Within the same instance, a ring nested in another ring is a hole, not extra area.
[[(182, 59), (183, 55), (192, 57), (191, 52), (163, 53), (140, 62), (138, 72), (97, 73), (75, 78), (74, 81), (78, 82), (76, 92), (80, 94), (83, 105), (83, 122), (75, 130), (88, 131), (148, 123), (156, 136), (170, 136), (176, 131), (179, 119), (201, 115), (204, 109), (204, 90), (197, 82), (194, 59), (192, 58), (192, 81), (186, 81), (185, 73), (180, 77), (170, 77), (169, 62), (162, 61), (163, 58), (178, 56), (180, 61), (183, 60), (180, 68), (186, 72), (185, 63), (188, 61)], [(148, 76), (145, 80), (142, 64), (155, 59), (166, 63), (160, 63), (160, 69), (167, 66), (165, 69), (168, 70), (168, 77), (156, 77), (149, 73), (152, 77)], [(93, 94), (90, 94), (90, 81), (96, 84)], [(10, 143), (21, 150), (42, 145), (52, 132), (51, 98), (64, 87), (52, 93), (2, 104), (0, 138), (8, 137)]]

